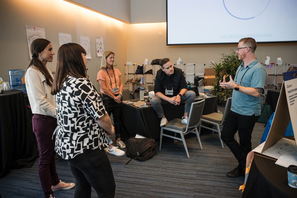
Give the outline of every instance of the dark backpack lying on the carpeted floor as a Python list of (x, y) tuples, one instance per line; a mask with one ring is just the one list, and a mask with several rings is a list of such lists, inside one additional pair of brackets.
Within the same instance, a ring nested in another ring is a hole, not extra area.
[(127, 157), (131, 158), (126, 165), (132, 160), (145, 161), (155, 156), (159, 142), (152, 138), (135, 138), (130, 137), (127, 141)]

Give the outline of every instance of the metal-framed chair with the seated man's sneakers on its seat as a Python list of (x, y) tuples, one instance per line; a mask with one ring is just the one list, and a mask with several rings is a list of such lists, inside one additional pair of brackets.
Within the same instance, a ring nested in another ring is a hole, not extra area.
[[(200, 118), (202, 115), (204, 103), (205, 103), (205, 99), (198, 101), (198, 102), (193, 102), (191, 104), (191, 109), (190, 109), (187, 124), (181, 123), (181, 119), (175, 118), (175, 119), (169, 121), (165, 126), (161, 127), (160, 147), (159, 147), (160, 150), (161, 150), (161, 146), (162, 146), (162, 137), (163, 136), (170, 137), (170, 138), (180, 140), (183, 142), (187, 156), (188, 156), (188, 158), (190, 158), (187, 144), (186, 144), (186, 141), (184, 138), (184, 136), (190, 132), (196, 134), (197, 139), (200, 144), (200, 148), (203, 149), (202, 145), (201, 145), (201, 141), (200, 141), (199, 132), (198, 132), (198, 126), (200, 125)], [(164, 134), (163, 130), (174, 132), (174, 136)], [(181, 135), (181, 138), (176, 137), (176, 133), (179, 133)]]

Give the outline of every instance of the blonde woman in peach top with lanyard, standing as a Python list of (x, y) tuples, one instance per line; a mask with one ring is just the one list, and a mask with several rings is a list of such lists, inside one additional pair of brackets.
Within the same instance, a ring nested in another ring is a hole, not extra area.
[[(97, 74), (97, 81), (100, 85), (102, 100), (105, 109), (110, 116), (113, 114), (113, 123), (116, 132), (116, 144), (121, 148), (126, 148), (126, 145), (121, 140), (121, 117), (122, 117), (122, 92), (123, 83), (121, 81), (121, 72), (113, 67), (114, 53), (106, 51), (101, 60), (100, 71)], [(112, 141), (110, 142), (112, 143)], [(117, 155), (118, 152), (124, 152), (119, 149), (108, 148), (108, 152)], [(118, 150), (118, 151), (117, 151)]]

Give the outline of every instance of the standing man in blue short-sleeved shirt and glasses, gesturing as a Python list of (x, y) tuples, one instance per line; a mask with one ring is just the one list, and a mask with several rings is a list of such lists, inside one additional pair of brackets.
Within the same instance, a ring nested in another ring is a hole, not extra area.
[[(234, 80), (219, 82), (224, 89), (233, 89), (231, 110), (225, 119), (221, 139), (230, 148), (238, 166), (228, 177), (245, 175), (247, 154), (252, 151), (252, 132), (261, 114), (261, 93), (266, 80), (265, 68), (255, 58), (257, 43), (253, 38), (239, 40), (236, 53), (243, 62), (237, 68)], [(239, 144), (234, 139), (238, 130)]]

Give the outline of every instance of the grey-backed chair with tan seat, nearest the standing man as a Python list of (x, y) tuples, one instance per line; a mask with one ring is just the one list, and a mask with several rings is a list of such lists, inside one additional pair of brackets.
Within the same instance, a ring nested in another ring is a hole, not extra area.
[[(231, 108), (231, 99), (232, 98), (228, 98), (227, 99), (227, 102), (226, 102), (226, 105), (225, 105), (225, 110), (224, 110), (224, 114), (221, 114), (221, 113), (210, 113), (210, 114), (207, 114), (207, 115), (202, 115), (201, 116), (201, 123), (202, 122), (206, 122), (206, 123), (209, 123), (209, 124), (212, 124), (214, 127), (213, 128), (210, 128), (208, 126), (203, 126), (202, 124), (200, 125), (200, 127), (203, 127), (203, 128), (206, 128), (206, 129), (209, 129), (209, 130), (212, 130), (214, 134), (214, 131), (215, 132), (218, 132), (219, 134), (219, 138), (220, 138), (220, 141), (221, 141), (221, 144), (222, 144), (222, 148), (224, 148), (224, 144), (223, 144), (223, 141), (221, 139), (221, 129), (223, 128), (223, 125), (224, 125), (224, 121), (230, 111), (230, 108)], [(200, 131), (200, 130), (199, 130)], [(235, 138), (236, 138), (236, 141), (238, 142), (238, 139), (237, 139), (237, 136), (235, 134)]]

